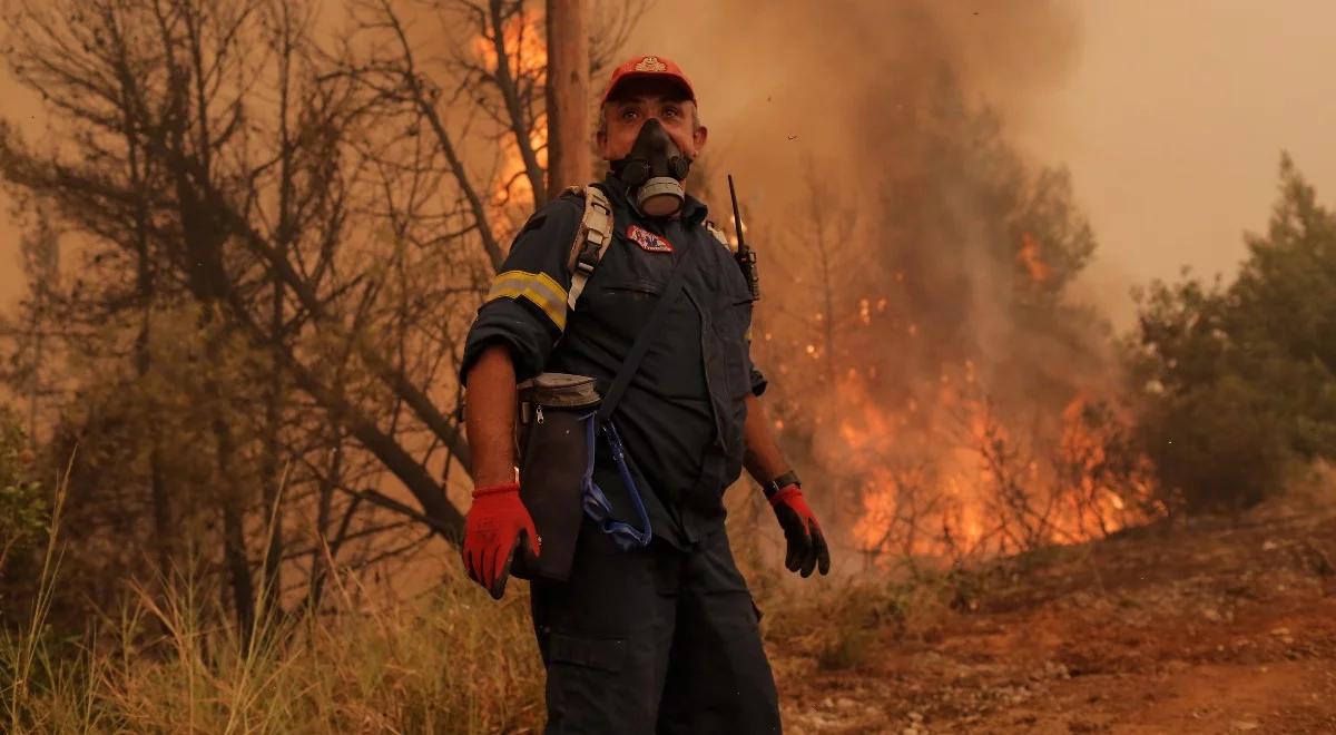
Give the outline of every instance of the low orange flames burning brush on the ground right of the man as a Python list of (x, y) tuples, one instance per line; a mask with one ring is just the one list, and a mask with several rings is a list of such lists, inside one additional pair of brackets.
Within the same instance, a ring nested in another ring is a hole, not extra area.
[[(966, 381), (967, 382), (967, 381)], [(1158, 514), (1149, 466), (1110, 436), (1104, 409), (1085, 397), (1061, 412), (1055, 438), (1023, 440), (986, 400), (943, 380), (937, 416), (911, 421), (875, 401), (842, 402), (856, 421), (839, 429), (847, 472), (859, 481), (855, 547), (870, 559), (961, 563), (1102, 539)], [(911, 430), (899, 429), (914, 425)], [(899, 462), (899, 464), (896, 464)]]

